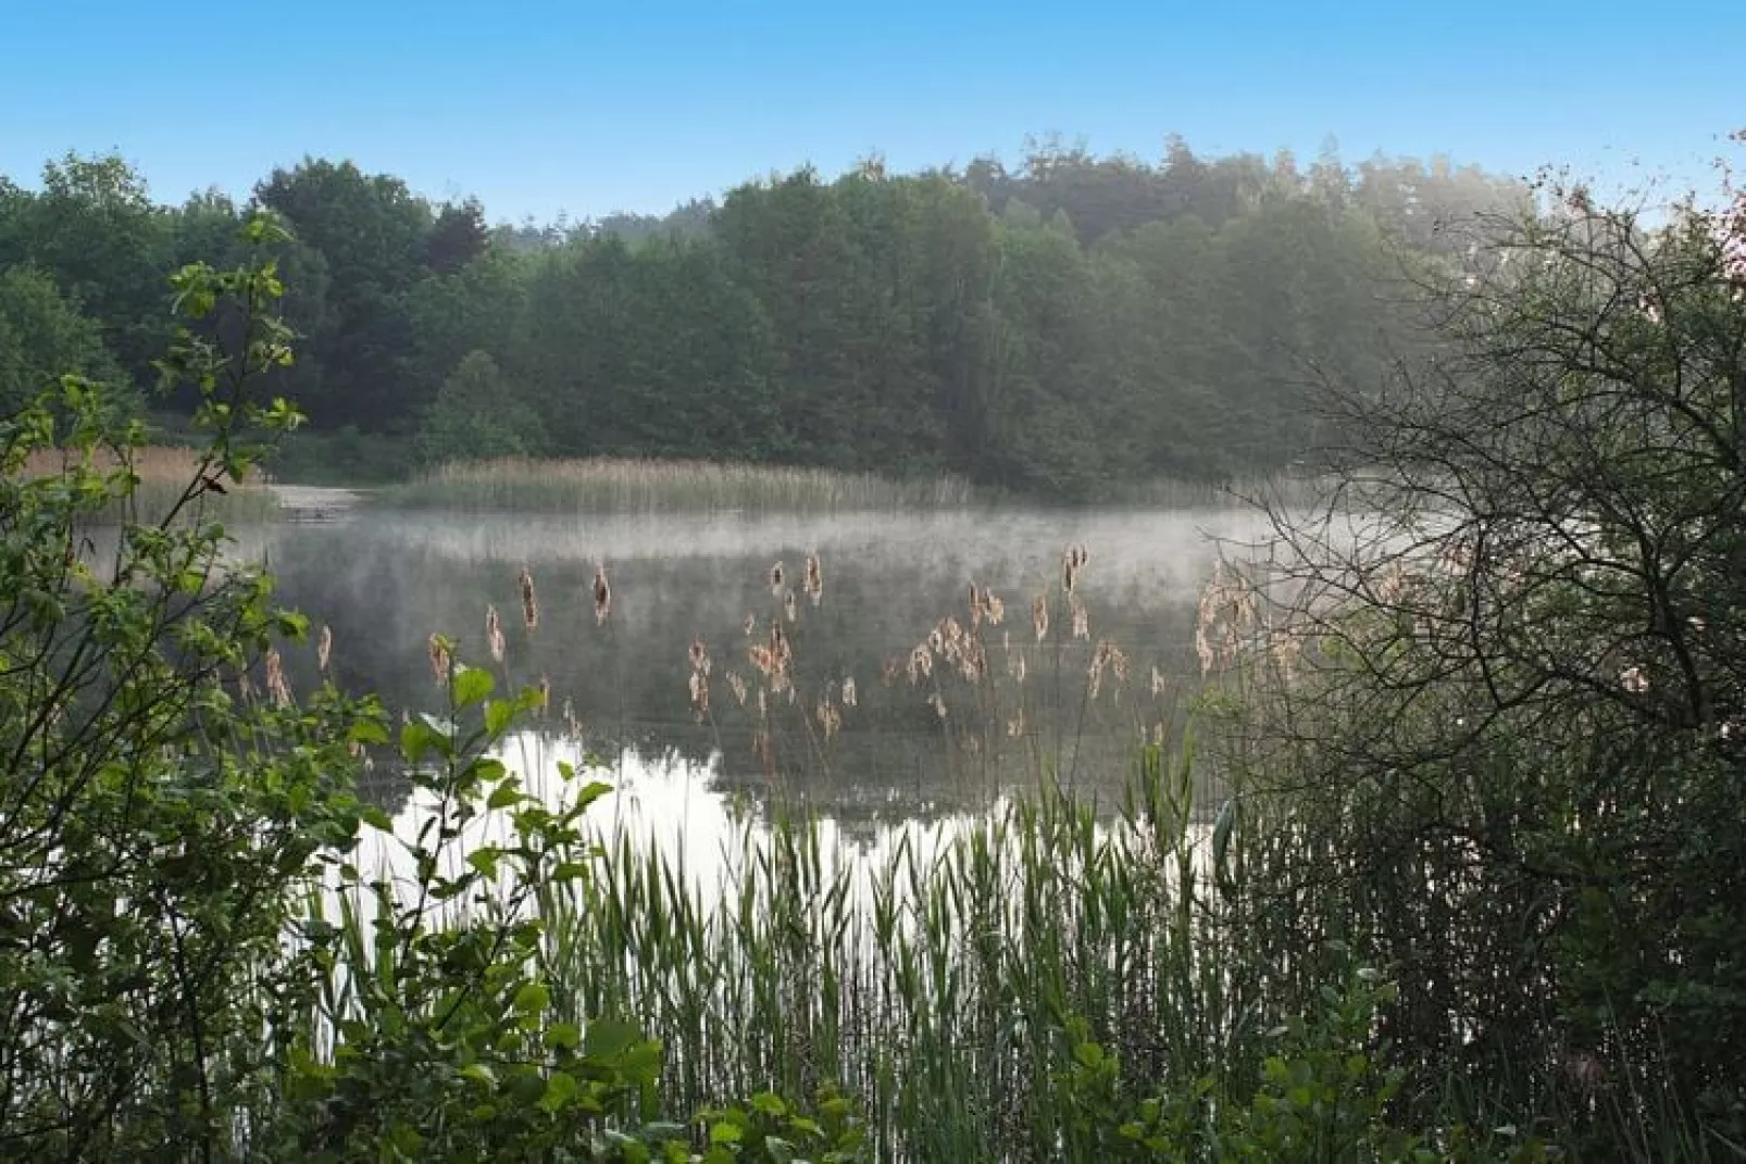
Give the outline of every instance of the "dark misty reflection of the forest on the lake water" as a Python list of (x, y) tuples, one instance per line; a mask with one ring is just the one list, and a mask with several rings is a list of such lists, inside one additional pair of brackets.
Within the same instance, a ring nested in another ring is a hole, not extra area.
[[(1088, 787), (1119, 784), (1140, 733), (1168, 724), (1193, 689), (1193, 620), (1219, 541), (1261, 532), (1261, 518), (1241, 510), (789, 518), (358, 511), (333, 524), (250, 531), (239, 551), (264, 557), (283, 599), (332, 627), (337, 681), (381, 693), (395, 714), (440, 707), (426, 658), (431, 632), (454, 637), (466, 661), (491, 663), (485, 609), (494, 606), (506, 633), (499, 675), (513, 684), (546, 679), (553, 719), (571, 707), (595, 754), (670, 757), (667, 777), (639, 759), (620, 780), (625, 794), (636, 785), (644, 799), (686, 798), (679, 808), (695, 846), (714, 827), (714, 810), (698, 803), (698, 773), (709, 773), (721, 811), (735, 794), (775, 785), (845, 829), (929, 806), (985, 805), (1041, 771)], [(1079, 585), (1086, 639), (1072, 637), (1062, 595), (1070, 544), (1090, 553)], [(800, 590), (808, 553), (822, 564), (822, 597), (786, 602), (772, 592), (770, 567), (782, 562), (786, 590)], [(538, 590), (533, 630), (517, 593), (524, 565)], [(604, 621), (592, 595), (597, 565), (613, 592)], [(974, 625), (973, 583), (1002, 599), (999, 627)], [(1030, 621), (1035, 595), (1048, 595), (1051, 609), (1041, 642)], [(948, 616), (976, 642), (969, 672), (936, 653), (932, 672), (911, 682), (911, 653)], [(786, 688), (749, 661), (749, 647), (770, 642), (772, 625), (793, 651)], [(690, 686), (693, 640), (709, 654), (702, 716)], [(1088, 668), (1105, 642), (1121, 667), (1107, 668), (1091, 700)], [(288, 660), (293, 681), (313, 681), (313, 647), (306, 654)], [(681, 771), (686, 778), (674, 775)]]

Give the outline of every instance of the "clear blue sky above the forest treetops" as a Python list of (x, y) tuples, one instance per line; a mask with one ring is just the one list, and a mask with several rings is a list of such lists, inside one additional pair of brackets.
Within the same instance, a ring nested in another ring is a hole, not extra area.
[(1013, 161), (1058, 131), (1704, 183), (1746, 126), (1743, 45), (1746, 0), (0, 0), (0, 173), (119, 148), (180, 201), (314, 154), (545, 220), (873, 150)]

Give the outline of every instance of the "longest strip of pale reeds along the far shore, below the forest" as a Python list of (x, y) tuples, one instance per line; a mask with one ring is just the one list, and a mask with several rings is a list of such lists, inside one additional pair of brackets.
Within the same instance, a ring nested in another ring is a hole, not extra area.
[(450, 462), (384, 490), (391, 506), (471, 511), (852, 511), (953, 508), (974, 490), (960, 478), (890, 480), (819, 468), (711, 461), (506, 457)]

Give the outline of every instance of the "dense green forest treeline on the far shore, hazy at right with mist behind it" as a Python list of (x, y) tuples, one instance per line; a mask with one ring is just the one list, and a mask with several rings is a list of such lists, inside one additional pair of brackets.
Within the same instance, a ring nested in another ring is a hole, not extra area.
[[(801, 169), (580, 225), (492, 227), (318, 159), (251, 194), (297, 234), (299, 359), (271, 389), (318, 429), (409, 462), (709, 457), (1056, 497), (1303, 457), (1311, 379), (1371, 380), (1414, 342), (1402, 257), (1523, 197), (1444, 162), (1175, 140), (1156, 164), (1046, 145), (1014, 169)], [(157, 204), (117, 157), (0, 178), (0, 407), (65, 370), (148, 386), (164, 274), (234, 258), (246, 209)]]

